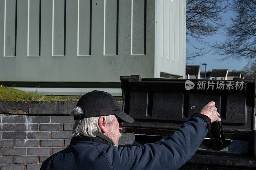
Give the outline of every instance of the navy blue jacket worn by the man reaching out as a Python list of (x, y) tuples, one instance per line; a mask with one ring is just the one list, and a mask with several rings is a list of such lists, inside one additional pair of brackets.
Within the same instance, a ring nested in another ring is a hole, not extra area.
[(140, 147), (109, 146), (104, 140), (99, 139), (73, 140), (67, 149), (47, 158), (41, 170), (178, 169), (195, 154), (204, 140), (209, 129), (206, 122), (204, 118), (193, 116), (173, 135)]

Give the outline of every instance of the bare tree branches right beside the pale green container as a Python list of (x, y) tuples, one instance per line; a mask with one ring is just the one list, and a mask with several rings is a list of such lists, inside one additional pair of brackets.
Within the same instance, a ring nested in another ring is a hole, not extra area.
[(192, 53), (186, 50), (188, 60), (203, 56), (211, 50), (196, 47), (188, 37), (201, 44), (208, 44), (204, 38), (216, 34), (225, 25), (220, 15), (221, 12), (226, 12), (228, 6), (224, 2), (226, 0), (187, 0), (186, 41), (195, 48)]

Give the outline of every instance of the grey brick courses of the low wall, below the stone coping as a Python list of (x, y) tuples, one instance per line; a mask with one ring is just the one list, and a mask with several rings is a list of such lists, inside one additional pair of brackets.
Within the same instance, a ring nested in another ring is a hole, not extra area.
[(1, 170), (40, 169), (50, 155), (70, 143), (70, 116), (0, 116)]

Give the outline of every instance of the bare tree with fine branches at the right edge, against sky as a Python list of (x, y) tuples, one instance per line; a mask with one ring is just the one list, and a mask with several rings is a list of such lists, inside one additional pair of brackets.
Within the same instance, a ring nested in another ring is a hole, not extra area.
[(215, 52), (226, 59), (256, 61), (256, 0), (234, 0), (231, 4), (234, 17), (226, 27), (227, 39), (215, 43)]

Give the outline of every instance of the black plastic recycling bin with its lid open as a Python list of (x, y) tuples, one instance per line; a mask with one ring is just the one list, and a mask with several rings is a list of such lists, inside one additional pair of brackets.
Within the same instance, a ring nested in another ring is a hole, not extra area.
[(121, 76), (123, 111), (135, 119), (123, 122), (120, 146), (156, 142), (173, 134), (214, 101), (227, 148), (211, 148), (208, 133), (196, 154), (180, 169), (255, 169), (255, 80), (154, 79)]

